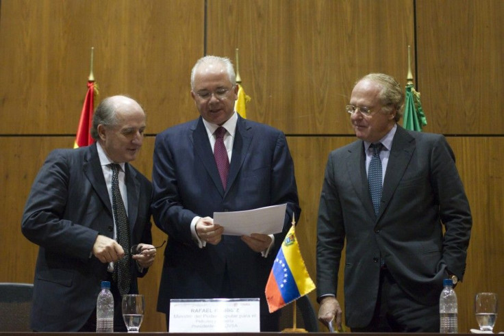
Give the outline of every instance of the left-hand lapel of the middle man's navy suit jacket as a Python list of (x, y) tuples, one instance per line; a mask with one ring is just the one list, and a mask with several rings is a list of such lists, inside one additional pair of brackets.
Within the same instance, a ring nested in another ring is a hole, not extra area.
[[(224, 187), (222, 181), (220, 181), (220, 176), (218, 175), (217, 164), (215, 163), (214, 153), (212, 152), (212, 146), (210, 146), (210, 141), (208, 140), (207, 130), (203, 124), (203, 119), (199, 117), (197, 122), (192, 129), (191, 142), (194, 146), (194, 151), (199, 156), (203, 167), (207, 170), (208, 175), (220, 194), (224, 196)], [(229, 183), (228, 183), (229, 185)]]

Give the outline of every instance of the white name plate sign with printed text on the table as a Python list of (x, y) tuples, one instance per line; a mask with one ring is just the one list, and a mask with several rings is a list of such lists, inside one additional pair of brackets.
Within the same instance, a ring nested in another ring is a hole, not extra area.
[(170, 300), (169, 333), (259, 333), (259, 298)]

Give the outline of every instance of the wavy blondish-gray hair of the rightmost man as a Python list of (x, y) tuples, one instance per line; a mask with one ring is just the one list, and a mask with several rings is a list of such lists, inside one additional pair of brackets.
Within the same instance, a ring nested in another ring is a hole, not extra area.
[[(401, 119), (402, 110), (404, 106), (404, 90), (401, 88), (399, 83), (394, 79), (394, 77), (385, 75), (383, 73), (370, 73), (357, 81), (362, 81), (367, 79), (381, 85), (382, 89), (379, 94), (381, 99), (381, 105), (383, 109), (391, 112), (392, 109), (396, 110), (396, 115), (394, 120), (398, 122)], [(391, 108), (392, 107), (392, 108)]]

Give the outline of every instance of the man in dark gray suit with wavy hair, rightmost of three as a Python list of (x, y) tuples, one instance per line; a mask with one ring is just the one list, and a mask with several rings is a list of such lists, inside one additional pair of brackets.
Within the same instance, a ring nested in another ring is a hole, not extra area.
[(317, 223), (318, 317), (326, 324), (336, 318), (338, 328), (345, 240), (352, 331), (439, 332), (443, 279), (462, 280), (466, 269), (472, 218), (453, 151), (442, 135), (397, 125), (403, 102), (388, 75), (357, 81), (346, 112), (359, 140), (327, 161)]

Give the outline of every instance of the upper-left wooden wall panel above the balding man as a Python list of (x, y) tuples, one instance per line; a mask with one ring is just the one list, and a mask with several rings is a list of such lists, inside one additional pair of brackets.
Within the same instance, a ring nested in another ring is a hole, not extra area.
[(97, 103), (132, 96), (151, 132), (194, 118), (190, 69), (203, 55), (204, 8), (203, 0), (2, 1), (0, 134), (75, 133), (91, 47)]

